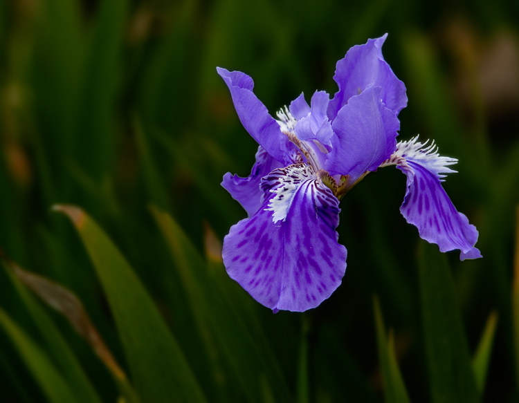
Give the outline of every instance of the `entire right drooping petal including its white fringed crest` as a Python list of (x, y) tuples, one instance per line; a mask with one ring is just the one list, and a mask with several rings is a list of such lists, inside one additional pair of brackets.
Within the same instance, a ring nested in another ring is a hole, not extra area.
[(454, 172), (448, 165), (456, 160), (439, 156), (434, 144), (425, 146), (417, 138), (400, 142), (394, 155), (383, 164), (396, 164), (407, 176), (406, 196), (400, 207), (402, 215), (418, 228), (421, 238), (439, 245), (441, 252), (458, 249), (461, 260), (481, 257), (474, 247), (477, 229), (464, 214), (457, 212), (441, 186), (444, 174)]

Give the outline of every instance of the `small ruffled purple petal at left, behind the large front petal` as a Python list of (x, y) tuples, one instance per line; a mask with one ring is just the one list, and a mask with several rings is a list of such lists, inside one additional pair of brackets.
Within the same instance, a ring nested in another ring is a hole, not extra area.
[(246, 178), (240, 178), (228, 172), (224, 175), (221, 186), (244, 207), (248, 216), (251, 217), (262, 205), (263, 192), (260, 189), (262, 178), (273, 171), (273, 169), (280, 167), (282, 167), (280, 162), (277, 162), (260, 146), (257, 149), (256, 163), (253, 166), (251, 175)]

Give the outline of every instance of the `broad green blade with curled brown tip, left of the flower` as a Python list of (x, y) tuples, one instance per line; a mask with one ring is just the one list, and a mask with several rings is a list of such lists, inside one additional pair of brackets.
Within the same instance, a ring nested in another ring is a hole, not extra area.
[(98, 225), (78, 207), (57, 205), (78, 230), (107, 295), (143, 402), (205, 402), (180, 346), (138, 277)]

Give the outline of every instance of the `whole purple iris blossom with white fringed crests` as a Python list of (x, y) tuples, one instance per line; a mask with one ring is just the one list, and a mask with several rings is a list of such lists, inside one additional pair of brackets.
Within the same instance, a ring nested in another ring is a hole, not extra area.
[(224, 264), (251, 296), (271, 308), (315, 308), (340, 285), (346, 248), (338, 243), (339, 201), (368, 173), (396, 165), (407, 176), (400, 211), (419, 235), (460, 259), (481, 257), (477, 230), (441, 187), (449, 165), (434, 144), (397, 143), (406, 87), (383, 59), (387, 34), (349, 49), (337, 63), (339, 91), (330, 100), (303, 94), (277, 113), (253, 93), (253, 80), (217, 68), (239, 120), (260, 144), (251, 175), (221, 185), (248, 213), (224, 238)]

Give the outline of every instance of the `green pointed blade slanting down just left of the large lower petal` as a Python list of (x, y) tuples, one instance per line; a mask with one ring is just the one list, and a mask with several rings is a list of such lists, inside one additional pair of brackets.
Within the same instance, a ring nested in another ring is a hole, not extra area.
[[(231, 298), (232, 291), (219, 277), (226, 274), (223, 265), (210, 272), (208, 263), (173, 218), (154, 206), (150, 209), (170, 247), (198, 326), (215, 336), (248, 400), (263, 402), (270, 393), (276, 401), (293, 400), (262, 328), (255, 326), (255, 312), (246, 310), (247, 302), (241, 299), (248, 295), (236, 293)], [(227, 283), (228, 277), (224, 278)]]

